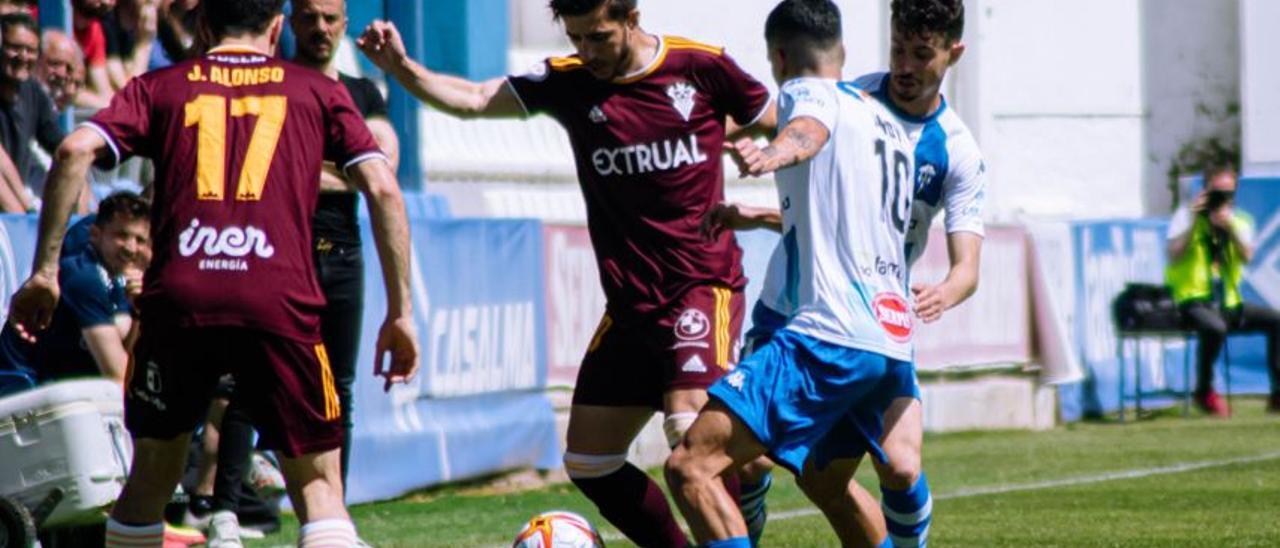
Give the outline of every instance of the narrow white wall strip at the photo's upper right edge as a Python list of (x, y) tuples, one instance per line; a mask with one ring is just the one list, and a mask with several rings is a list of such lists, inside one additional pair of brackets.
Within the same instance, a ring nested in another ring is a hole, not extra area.
[(1280, 1), (1240, 0), (1244, 169), (1280, 175)]

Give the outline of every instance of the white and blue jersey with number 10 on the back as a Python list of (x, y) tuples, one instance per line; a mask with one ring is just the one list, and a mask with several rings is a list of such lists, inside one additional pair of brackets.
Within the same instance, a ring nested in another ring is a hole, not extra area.
[(782, 298), (787, 329), (911, 360), (905, 237), (913, 200), (911, 141), (895, 117), (850, 82), (782, 86), (778, 125), (813, 118), (831, 133), (818, 154), (778, 170)]

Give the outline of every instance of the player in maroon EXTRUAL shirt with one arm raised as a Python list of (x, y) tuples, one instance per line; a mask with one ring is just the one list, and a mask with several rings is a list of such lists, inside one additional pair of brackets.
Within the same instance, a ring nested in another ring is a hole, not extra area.
[(741, 250), (731, 232), (705, 236), (700, 225), (723, 200), (726, 131), (769, 120), (769, 93), (719, 47), (645, 33), (635, 0), (550, 9), (577, 54), (525, 76), (479, 83), (433, 73), (384, 22), (361, 47), (442, 110), (547, 114), (568, 131), (608, 306), (579, 373), (564, 466), (631, 540), (681, 545), (662, 490), (626, 451), (654, 411), (678, 440), (707, 387), (736, 361)]

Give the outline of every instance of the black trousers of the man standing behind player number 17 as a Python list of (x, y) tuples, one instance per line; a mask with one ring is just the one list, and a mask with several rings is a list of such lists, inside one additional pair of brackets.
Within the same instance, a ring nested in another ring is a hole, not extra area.
[[(320, 251), (323, 250), (323, 251)], [(360, 246), (325, 245), (315, 252), (316, 275), (325, 296), (320, 337), (329, 355), (346, 435), (342, 438), (342, 484), (346, 492), (351, 463), (352, 397), (356, 356), (360, 353), (361, 316), (365, 309), (365, 260)], [(370, 367), (372, 364), (370, 364)], [(223, 416), (218, 443), (218, 472), (214, 479), (214, 510), (237, 510), (241, 483), (252, 453), (253, 421), (233, 396)]]

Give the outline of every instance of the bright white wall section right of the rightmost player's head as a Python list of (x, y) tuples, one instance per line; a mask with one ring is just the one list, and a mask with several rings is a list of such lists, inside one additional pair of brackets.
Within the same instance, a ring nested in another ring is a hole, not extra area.
[[(969, 42), (996, 218), (1142, 211), (1137, 0), (979, 0)], [(1106, 17), (1098, 17), (1106, 14)], [(961, 113), (964, 115), (965, 113)]]

